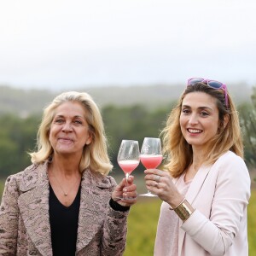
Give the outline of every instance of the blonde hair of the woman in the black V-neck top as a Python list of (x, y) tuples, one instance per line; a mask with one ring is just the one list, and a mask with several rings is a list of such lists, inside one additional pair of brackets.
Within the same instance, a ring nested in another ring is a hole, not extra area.
[(108, 158), (108, 142), (105, 136), (102, 114), (91, 96), (85, 92), (68, 91), (56, 96), (47, 108), (44, 108), (42, 122), (38, 129), (36, 152), (32, 152), (32, 163), (42, 163), (53, 154), (53, 148), (49, 143), (50, 125), (54, 119), (55, 109), (63, 102), (80, 102), (84, 107), (86, 121), (92, 137), (90, 145), (84, 145), (83, 155), (80, 160), (80, 172), (90, 167), (94, 172), (107, 175), (113, 168)]

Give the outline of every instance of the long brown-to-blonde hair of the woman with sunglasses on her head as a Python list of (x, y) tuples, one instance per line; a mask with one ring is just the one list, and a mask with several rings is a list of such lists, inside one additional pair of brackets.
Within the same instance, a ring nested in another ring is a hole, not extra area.
[[(166, 169), (172, 174), (172, 177), (180, 176), (191, 165), (193, 160), (192, 147), (183, 137), (179, 124), (183, 98), (187, 94), (195, 91), (201, 91), (216, 98), (219, 112), (218, 133), (208, 143), (206, 148), (206, 159), (204, 165), (211, 165), (219, 156), (233, 151), (243, 158), (243, 144), (241, 139), (241, 127), (239, 123), (236, 106), (228, 94), (229, 108), (225, 105), (224, 90), (213, 89), (207, 84), (197, 83), (189, 85), (180, 96), (177, 106), (172, 109), (167, 121), (166, 127), (161, 132), (163, 137), (163, 151), (166, 154)], [(229, 122), (224, 126), (224, 116), (229, 115)]]

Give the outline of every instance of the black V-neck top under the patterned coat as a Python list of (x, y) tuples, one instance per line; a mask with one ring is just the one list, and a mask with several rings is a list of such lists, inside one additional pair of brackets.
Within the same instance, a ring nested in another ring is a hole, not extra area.
[(49, 184), (49, 224), (54, 256), (75, 255), (79, 226), (80, 194), (81, 186), (72, 205), (65, 207), (58, 200)]

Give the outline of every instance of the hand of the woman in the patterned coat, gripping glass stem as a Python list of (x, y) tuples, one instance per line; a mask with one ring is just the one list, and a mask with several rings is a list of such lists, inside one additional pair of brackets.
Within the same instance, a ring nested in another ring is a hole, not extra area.
[(131, 207), (137, 202), (137, 186), (133, 183), (134, 177), (130, 176), (126, 184), (125, 177), (115, 187), (112, 193), (113, 201), (119, 203), (123, 207)]

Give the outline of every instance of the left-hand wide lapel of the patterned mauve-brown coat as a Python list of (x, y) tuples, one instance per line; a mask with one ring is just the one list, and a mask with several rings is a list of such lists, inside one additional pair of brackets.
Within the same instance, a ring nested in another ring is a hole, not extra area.
[(20, 183), (19, 207), (28, 236), (42, 255), (52, 255), (47, 164), (33, 166)]

